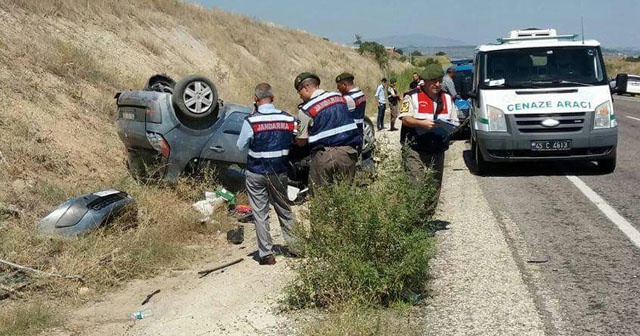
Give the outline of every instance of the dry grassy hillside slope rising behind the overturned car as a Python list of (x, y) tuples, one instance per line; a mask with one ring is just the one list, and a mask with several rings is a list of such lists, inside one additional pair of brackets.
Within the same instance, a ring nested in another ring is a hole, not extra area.
[(203, 74), (234, 102), (268, 81), (285, 110), (299, 72), (334, 89), (352, 71), (371, 95), (381, 76), (349, 47), (180, 1), (0, 0), (0, 18), (0, 201), (34, 217), (126, 176), (113, 95), (150, 75)]

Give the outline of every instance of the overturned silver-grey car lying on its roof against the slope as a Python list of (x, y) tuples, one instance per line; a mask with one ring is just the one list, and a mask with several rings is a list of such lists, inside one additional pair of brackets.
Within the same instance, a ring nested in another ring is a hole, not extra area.
[[(175, 181), (212, 167), (227, 178), (242, 175), (247, 152), (236, 142), (252, 107), (218, 99), (215, 85), (206, 77), (191, 75), (175, 82), (155, 75), (144, 89), (119, 92), (116, 99), (118, 135), (134, 177)], [(365, 117), (361, 162), (372, 160), (374, 141), (373, 123)], [(293, 185), (307, 184), (308, 152), (291, 148)]]

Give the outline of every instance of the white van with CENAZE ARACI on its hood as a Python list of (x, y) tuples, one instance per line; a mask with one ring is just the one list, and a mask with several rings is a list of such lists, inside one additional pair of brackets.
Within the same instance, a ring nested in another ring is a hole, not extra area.
[(478, 174), (492, 162), (542, 160), (615, 170), (618, 129), (600, 43), (576, 36), (517, 30), (476, 49), (470, 123)]

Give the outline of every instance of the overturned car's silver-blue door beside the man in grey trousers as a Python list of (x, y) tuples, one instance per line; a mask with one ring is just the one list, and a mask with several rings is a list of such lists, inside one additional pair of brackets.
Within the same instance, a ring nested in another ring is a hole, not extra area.
[(236, 146), (242, 123), (248, 114), (245, 111), (229, 111), (220, 127), (214, 131), (202, 148), (200, 157), (206, 160), (246, 164), (247, 149), (240, 151)]

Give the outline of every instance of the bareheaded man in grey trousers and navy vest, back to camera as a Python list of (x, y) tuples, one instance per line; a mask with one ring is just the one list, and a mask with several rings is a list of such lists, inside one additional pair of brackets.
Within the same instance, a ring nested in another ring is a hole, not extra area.
[(240, 150), (249, 146), (246, 186), (249, 205), (255, 217), (260, 265), (273, 265), (273, 241), (269, 233), (269, 204), (278, 215), (282, 236), (289, 246), (295, 219), (287, 203), (287, 168), (289, 148), (293, 142), (295, 118), (273, 105), (271, 85), (256, 86), (253, 96), (257, 110), (248, 116), (238, 138)]

